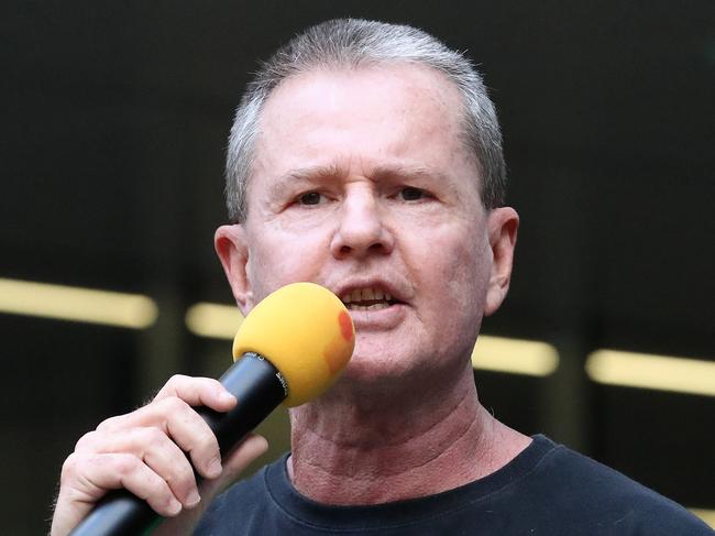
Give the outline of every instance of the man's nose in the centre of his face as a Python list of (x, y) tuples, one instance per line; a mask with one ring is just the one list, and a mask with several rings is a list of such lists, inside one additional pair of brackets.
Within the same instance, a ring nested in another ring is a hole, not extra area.
[(385, 226), (384, 207), (369, 188), (345, 194), (340, 207), (338, 229), (330, 242), (336, 259), (388, 254), (395, 245), (393, 232)]

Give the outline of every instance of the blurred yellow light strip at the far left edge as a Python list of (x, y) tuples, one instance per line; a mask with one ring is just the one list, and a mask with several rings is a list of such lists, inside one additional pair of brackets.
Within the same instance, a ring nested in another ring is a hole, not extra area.
[(0, 278), (0, 313), (143, 329), (158, 308), (141, 294)]

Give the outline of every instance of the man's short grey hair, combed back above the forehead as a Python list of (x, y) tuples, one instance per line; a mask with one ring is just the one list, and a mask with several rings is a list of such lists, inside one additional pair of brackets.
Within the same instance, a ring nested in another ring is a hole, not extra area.
[(454, 84), (463, 99), (462, 138), (469, 154), (475, 156), (482, 175), (483, 205), (504, 204), (506, 165), (496, 110), (484, 81), (461, 53), (421, 30), (399, 24), (337, 19), (309, 28), (282, 46), (260, 70), (241, 99), (226, 164), (226, 197), (229, 218), (246, 218), (246, 190), (255, 158), (261, 111), (271, 91), (283, 80), (315, 69), (359, 68), (363, 66), (413, 63), (435, 68)]

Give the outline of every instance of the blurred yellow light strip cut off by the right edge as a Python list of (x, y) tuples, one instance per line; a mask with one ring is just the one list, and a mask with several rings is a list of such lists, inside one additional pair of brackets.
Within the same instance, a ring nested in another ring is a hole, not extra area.
[(597, 350), (586, 373), (598, 383), (715, 396), (715, 362), (669, 355)]

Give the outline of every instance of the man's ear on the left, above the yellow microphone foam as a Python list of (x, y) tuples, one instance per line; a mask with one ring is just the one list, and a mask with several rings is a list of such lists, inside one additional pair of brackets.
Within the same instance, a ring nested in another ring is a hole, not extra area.
[(231, 285), (235, 303), (245, 316), (255, 304), (251, 281), (246, 273), (249, 244), (243, 226), (219, 227), (213, 236), (213, 247)]

